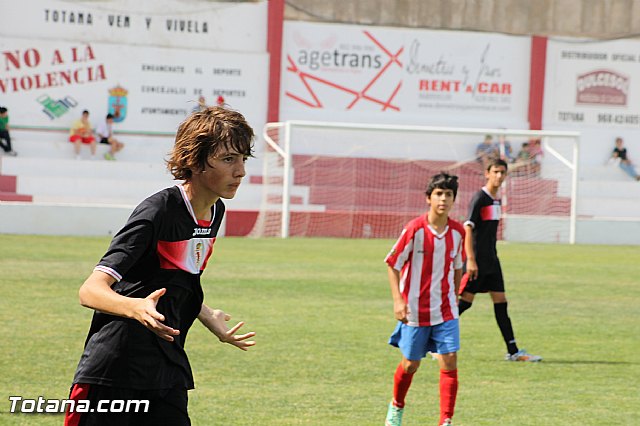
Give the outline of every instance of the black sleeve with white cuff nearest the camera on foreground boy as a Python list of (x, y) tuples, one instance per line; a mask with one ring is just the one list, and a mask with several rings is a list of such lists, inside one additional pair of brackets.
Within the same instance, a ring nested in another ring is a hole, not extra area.
[(157, 241), (157, 229), (162, 213), (149, 200), (133, 211), (124, 227), (111, 240), (109, 249), (94, 270), (120, 281)]

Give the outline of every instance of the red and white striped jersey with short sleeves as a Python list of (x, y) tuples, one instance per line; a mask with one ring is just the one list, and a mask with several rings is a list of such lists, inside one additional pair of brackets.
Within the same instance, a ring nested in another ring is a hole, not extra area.
[(426, 215), (404, 227), (385, 262), (400, 272), (408, 325), (437, 325), (458, 318), (453, 273), (462, 268), (464, 235), (462, 225), (452, 219), (437, 234)]

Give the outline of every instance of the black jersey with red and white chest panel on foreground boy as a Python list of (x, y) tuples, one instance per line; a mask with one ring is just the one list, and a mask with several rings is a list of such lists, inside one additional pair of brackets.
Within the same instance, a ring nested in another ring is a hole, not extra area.
[(180, 335), (167, 342), (136, 320), (96, 311), (73, 383), (193, 388), (184, 344), (204, 300), (200, 276), (223, 215), (224, 204), (218, 200), (212, 220), (199, 222), (181, 185), (136, 207), (95, 269), (114, 277), (112, 288), (123, 296), (144, 298), (166, 288), (156, 309)]

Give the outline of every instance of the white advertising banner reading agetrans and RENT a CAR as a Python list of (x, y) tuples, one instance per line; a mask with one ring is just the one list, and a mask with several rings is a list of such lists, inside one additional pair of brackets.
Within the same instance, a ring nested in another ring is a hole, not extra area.
[(529, 37), (285, 22), (282, 120), (523, 127)]

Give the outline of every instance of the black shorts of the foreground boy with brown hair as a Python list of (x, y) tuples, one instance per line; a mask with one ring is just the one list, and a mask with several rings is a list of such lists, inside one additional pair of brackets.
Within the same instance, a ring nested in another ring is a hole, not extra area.
[[(65, 426), (191, 425), (186, 389), (136, 390), (79, 383), (71, 387), (69, 399), (76, 401), (76, 410), (67, 409)], [(89, 401), (88, 409), (81, 400)]]

